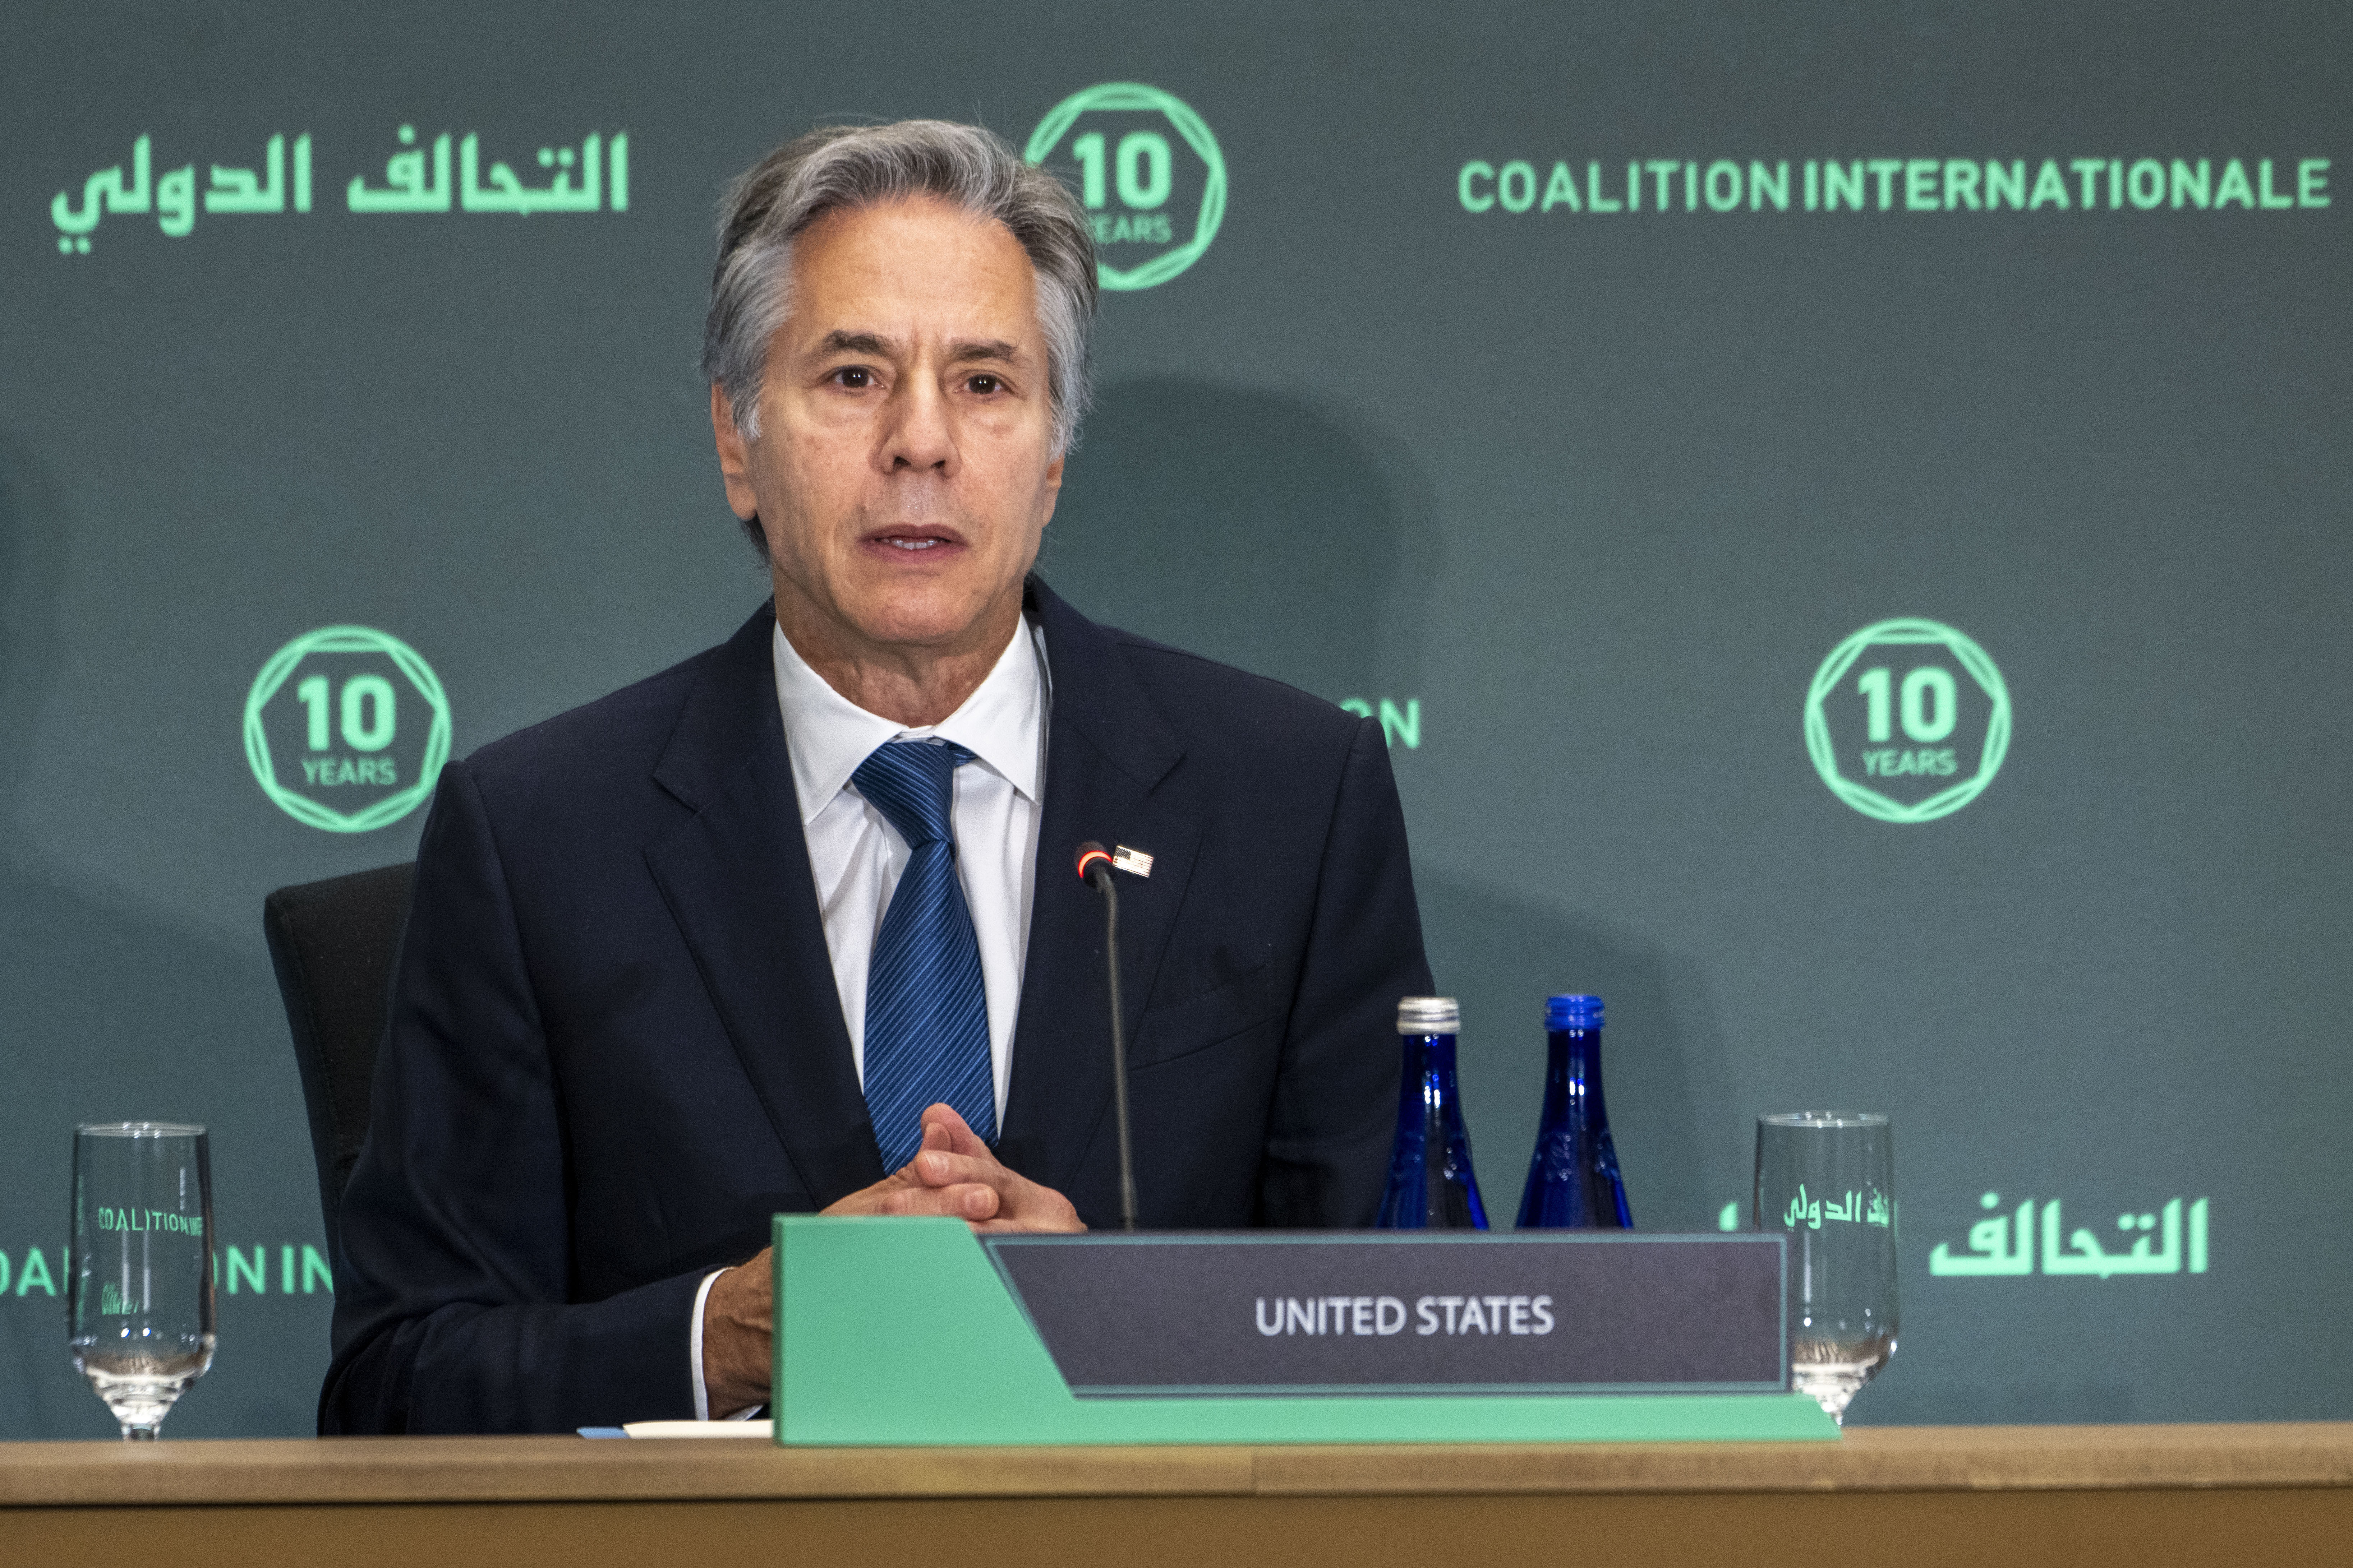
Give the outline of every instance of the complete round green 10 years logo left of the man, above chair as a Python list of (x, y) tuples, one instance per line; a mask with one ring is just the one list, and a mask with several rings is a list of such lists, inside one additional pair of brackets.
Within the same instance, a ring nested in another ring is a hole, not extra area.
[(391, 632), (304, 632), (271, 654), (245, 696), (245, 759), (296, 823), (388, 827), (433, 795), (449, 762), (449, 696)]

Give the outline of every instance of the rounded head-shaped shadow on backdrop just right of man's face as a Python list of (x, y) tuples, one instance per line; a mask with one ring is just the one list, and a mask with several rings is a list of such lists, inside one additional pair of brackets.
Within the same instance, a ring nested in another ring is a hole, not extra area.
[(1419, 696), (1428, 484), (1346, 414), (1191, 378), (1101, 393), (1038, 571), (1094, 621), (1341, 701)]

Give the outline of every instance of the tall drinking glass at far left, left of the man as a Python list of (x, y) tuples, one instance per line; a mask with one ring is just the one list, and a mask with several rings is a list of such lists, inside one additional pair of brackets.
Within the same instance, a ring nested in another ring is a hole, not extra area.
[(212, 1366), (212, 1152), (200, 1126), (73, 1131), (66, 1335), (127, 1441)]

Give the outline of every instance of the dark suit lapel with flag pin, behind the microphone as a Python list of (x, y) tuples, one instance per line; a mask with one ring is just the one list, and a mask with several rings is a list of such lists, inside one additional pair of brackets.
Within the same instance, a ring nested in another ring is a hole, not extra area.
[(1104, 900), (1073, 870), (1078, 844), (1132, 844), (1153, 856), (1148, 879), (1120, 875), (1120, 1001), (1134, 1039), (1184, 905), (1200, 825), (1153, 795), (1184, 757), (1184, 743), (1120, 644), (1035, 578), (1028, 604), (1045, 628), (1054, 717), (998, 1157), (1068, 1192), (1087, 1147), (1111, 1135)]

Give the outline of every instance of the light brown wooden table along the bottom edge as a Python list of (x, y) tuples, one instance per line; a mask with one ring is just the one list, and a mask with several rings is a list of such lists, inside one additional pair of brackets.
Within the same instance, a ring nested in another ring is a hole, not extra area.
[(1838, 1443), (0, 1443), (16, 1563), (2353, 1563), (2353, 1422)]

